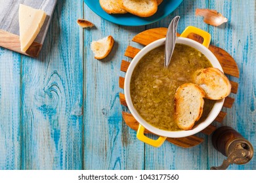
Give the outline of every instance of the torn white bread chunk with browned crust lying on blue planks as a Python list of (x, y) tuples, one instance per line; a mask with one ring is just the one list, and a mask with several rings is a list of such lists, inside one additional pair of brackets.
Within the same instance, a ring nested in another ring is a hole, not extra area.
[(98, 41), (91, 42), (91, 50), (95, 54), (95, 59), (104, 59), (110, 54), (114, 46), (114, 39), (111, 35)]

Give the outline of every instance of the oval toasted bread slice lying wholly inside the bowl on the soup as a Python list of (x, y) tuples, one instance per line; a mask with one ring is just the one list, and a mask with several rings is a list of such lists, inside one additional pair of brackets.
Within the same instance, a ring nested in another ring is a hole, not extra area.
[(197, 84), (185, 83), (175, 93), (175, 122), (183, 130), (192, 129), (203, 114), (205, 92)]

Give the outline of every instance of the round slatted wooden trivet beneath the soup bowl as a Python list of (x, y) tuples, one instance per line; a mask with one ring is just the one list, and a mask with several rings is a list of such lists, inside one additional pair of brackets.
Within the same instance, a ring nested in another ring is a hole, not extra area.
[[(132, 41), (146, 46), (153, 41), (156, 41), (158, 39), (166, 37), (166, 33), (167, 33), (167, 28), (165, 28), (165, 27), (148, 29), (146, 31), (143, 31), (142, 33), (139, 33), (135, 37), (133, 37)], [(177, 34), (177, 35), (179, 36), (179, 34)], [(193, 39), (194, 41), (198, 41), (200, 43), (203, 42), (203, 38), (194, 33), (191, 33), (188, 36), (188, 38)], [(230, 75), (230, 76), (239, 78), (238, 66), (236, 65), (236, 61), (234, 61), (234, 59), (230, 56), (230, 54), (228, 54), (223, 49), (221, 49), (217, 46), (213, 46), (213, 45), (209, 46), (209, 50), (211, 50), (211, 52), (213, 52), (213, 54), (219, 60), (219, 63), (221, 63), (221, 66), (223, 67), (223, 71), (226, 75)], [(128, 58), (134, 58), (138, 54), (139, 51), (140, 51), (140, 49), (138, 49), (138, 48), (135, 48), (133, 46), (127, 46), (127, 49), (125, 51), (125, 56), (127, 56)], [(128, 67), (129, 67), (129, 64), (130, 64), (129, 61), (122, 60), (121, 61), (121, 71), (126, 73)], [(119, 87), (120, 88), (124, 88), (124, 81), (125, 81), (125, 78), (120, 76), (119, 77)], [(230, 83), (232, 85), (231, 92), (236, 94), (238, 91), (238, 83), (233, 82), (231, 80), (230, 80)], [(125, 95), (123, 93), (119, 93), (119, 99), (120, 99), (121, 105), (124, 105), (127, 107), (127, 104), (125, 101)], [(231, 108), (233, 103), (234, 103), (234, 98), (226, 97), (226, 99), (224, 100), (223, 108), (224, 107)], [(137, 122), (137, 120), (135, 120), (133, 115), (128, 112), (122, 112), (122, 116), (123, 116), (123, 120), (125, 121), (125, 123), (129, 127), (131, 127), (131, 129), (134, 129), (135, 131), (137, 131), (137, 129), (139, 127), (139, 122)], [(225, 116), (226, 116), (226, 112), (221, 111), (219, 113), (219, 115), (217, 116), (217, 118), (215, 119), (215, 121), (221, 123), (221, 122), (223, 122), (223, 119)], [(208, 127), (206, 127), (205, 129), (203, 129), (202, 131), (200, 131), (200, 133), (204, 133), (205, 135), (211, 135), (211, 133), (213, 133), (213, 131), (215, 131), (215, 129), (216, 129), (215, 125), (211, 124)], [(151, 133), (151, 132), (145, 131), (145, 133)], [(196, 146), (196, 145), (200, 144), (201, 142), (203, 142), (203, 138), (197, 137), (196, 135), (191, 135), (189, 137), (182, 137), (182, 138), (169, 138), (168, 137), (167, 141), (169, 141), (177, 146), (189, 148), (189, 147)]]

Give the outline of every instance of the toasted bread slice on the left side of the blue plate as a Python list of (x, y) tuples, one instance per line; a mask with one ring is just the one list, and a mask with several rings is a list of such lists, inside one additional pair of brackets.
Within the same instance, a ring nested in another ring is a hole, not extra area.
[(125, 14), (126, 10), (120, 7), (118, 0), (100, 0), (100, 7), (108, 14)]

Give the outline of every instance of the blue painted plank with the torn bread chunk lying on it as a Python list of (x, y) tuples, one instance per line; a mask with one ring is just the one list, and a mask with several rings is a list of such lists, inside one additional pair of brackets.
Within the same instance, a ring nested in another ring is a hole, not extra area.
[[(85, 19), (95, 28), (84, 31), (84, 169), (144, 169), (144, 144), (122, 120), (118, 80), (121, 59), (142, 27), (123, 27), (103, 20), (85, 5)], [(112, 35), (110, 55), (94, 59), (91, 41)]]

